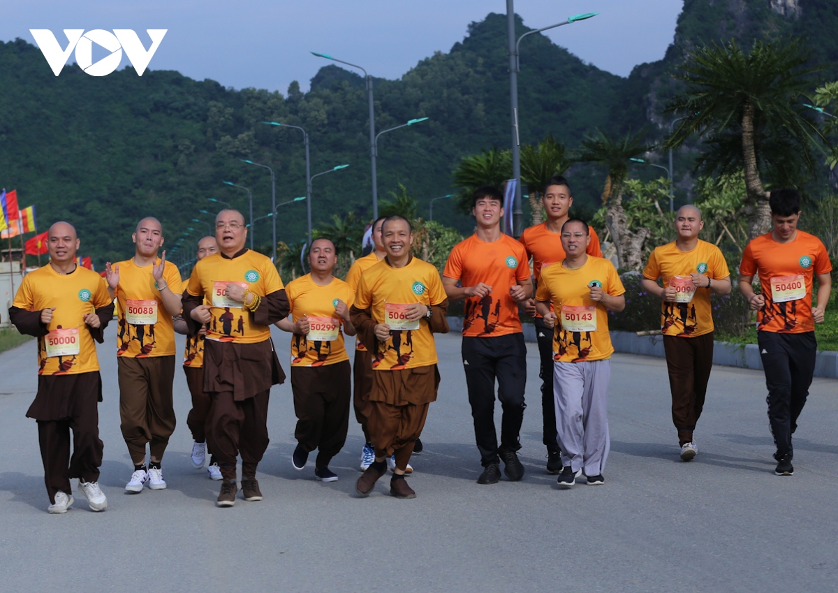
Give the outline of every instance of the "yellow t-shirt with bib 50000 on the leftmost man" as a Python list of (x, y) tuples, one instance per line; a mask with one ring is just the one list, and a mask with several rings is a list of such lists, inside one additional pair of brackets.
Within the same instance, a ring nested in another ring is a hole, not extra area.
[(70, 274), (59, 274), (47, 264), (24, 276), (13, 306), (23, 311), (55, 307), (49, 333), (38, 338), (38, 374), (99, 370), (96, 343), (84, 316), (110, 304), (105, 280), (81, 266)]

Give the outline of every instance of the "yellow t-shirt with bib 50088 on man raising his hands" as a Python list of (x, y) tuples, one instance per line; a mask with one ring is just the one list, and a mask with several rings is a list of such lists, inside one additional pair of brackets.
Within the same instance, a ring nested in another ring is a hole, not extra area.
[[(154, 264), (159, 263), (158, 258)], [(132, 358), (174, 356), (172, 315), (163, 305), (152, 274), (153, 266), (137, 266), (133, 258), (117, 265), (119, 284), (114, 291), (119, 316), (116, 355)], [(163, 267), (163, 281), (173, 294), (184, 292), (178, 266), (171, 261)]]

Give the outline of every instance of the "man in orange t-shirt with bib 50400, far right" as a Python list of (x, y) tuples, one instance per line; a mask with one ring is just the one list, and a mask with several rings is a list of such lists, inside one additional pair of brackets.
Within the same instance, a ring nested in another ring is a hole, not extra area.
[[(757, 343), (768, 388), (768, 423), (777, 451), (778, 476), (794, 473), (791, 436), (815, 374), (815, 323), (824, 321), (832, 289), (832, 265), (820, 239), (797, 229), (800, 194), (796, 189), (771, 192), (770, 233), (745, 247), (739, 265), (739, 290), (757, 311)], [(759, 273), (761, 293), (753, 291)], [(812, 307), (813, 276), (818, 302)]]

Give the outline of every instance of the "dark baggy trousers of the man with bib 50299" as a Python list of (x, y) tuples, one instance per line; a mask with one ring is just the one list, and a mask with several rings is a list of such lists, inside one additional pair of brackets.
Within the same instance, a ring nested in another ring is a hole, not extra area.
[(328, 467), (349, 430), (349, 360), (322, 367), (291, 367), (297, 428), (306, 451), (318, 450), (316, 467)]

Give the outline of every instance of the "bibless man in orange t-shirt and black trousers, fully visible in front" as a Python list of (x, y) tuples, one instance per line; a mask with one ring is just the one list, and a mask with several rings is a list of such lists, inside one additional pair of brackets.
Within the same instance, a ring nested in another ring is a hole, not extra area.
[[(532, 296), (530, 266), (524, 247), (500, 229), (503, 194), (496, 188), (479, 188), (472, 204), (477, 229), (448, 255), (442, 286), (450, 300), (465, 299), (463, 368), (484, 467), (477, 482), (496, 484), (501, 459), (506, 477), (517, 482), (524, 477), (515, 451), (520, 449), (526, 407), (526, 346), (518, 303)], [(494, 429), (495, 379), (504, 410), (500, 446)]]

